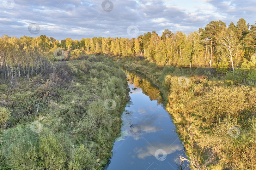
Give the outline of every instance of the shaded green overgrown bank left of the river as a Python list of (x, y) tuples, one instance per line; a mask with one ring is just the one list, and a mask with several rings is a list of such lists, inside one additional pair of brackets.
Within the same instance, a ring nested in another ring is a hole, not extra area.
[[(101, 169), (120, 132), (125, 73), (90, 55), (0, 84), (0, 169)], [(113, 99), (113, 100), (107, 100)], [(109, 101), (109, 102), (108, 102)]]

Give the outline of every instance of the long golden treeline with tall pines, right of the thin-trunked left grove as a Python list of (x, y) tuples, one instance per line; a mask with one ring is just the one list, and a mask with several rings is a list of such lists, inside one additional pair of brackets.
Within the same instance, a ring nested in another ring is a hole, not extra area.
[[(250, 27), (250, 29), (249, 29)], [(155, 31), (132, 38), (82, 38), (62, 40), (61, 48), (85, 50), (88, 53), (104, 53), (132, 57), (144, 56), (157, 65), (216, 66), (233, 69), (243, 59), (252, 60), (256, 46), (256, 25), (247, 24), (241, 18), (235, 25), (211, 21), (204, 29), (185, 34), (166, 29), (162, 36)]]

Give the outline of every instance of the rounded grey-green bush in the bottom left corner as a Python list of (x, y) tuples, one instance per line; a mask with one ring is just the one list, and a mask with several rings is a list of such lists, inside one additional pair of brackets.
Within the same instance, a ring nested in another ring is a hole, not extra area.
[(2, 134), (1, 148), (6, 163), (12, 169), (41, 169), (38, 155), (38, 134), (29, 126), (17, 126)]

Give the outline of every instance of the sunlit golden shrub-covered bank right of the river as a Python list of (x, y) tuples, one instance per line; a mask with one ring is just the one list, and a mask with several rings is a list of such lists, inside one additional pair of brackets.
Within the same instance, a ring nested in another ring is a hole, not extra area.
[(161, 86), (166, 109), (173, 116), (192, 168), (256, 169), (253, 63), (245, 61), (232, 72), (159, 67), (142, 58), (114, 60)]

